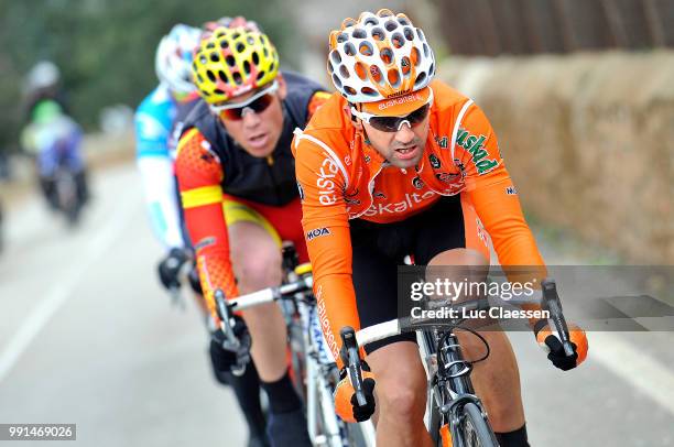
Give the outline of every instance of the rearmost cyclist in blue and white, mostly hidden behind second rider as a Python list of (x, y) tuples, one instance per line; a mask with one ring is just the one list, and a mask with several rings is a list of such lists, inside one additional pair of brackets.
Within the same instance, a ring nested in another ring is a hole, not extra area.
[[(180, 287), (180, 273), (192, 264), (192, 244), (183, 231), (180, 196), (174, 174), (174, 150), (182, 123), (199, 99), (192, 83), (192, 58), (202, 32), (231, 21), (224, 18), (208, 22), (204, 30), (176, 24), (165, 35), (156, 51), (155, 69), (159, 86), (141, 102), (135, 113), (137, 162), (143, 179), (145, 201), (155, 236), (165, 248), (159, 264), (160, 281), (171, 291)], [(196, 274), (196, 272), (194, 272)], [(189, 275), (192, 286), (200, 291), (198, 276)], [(199, 305), (203, 302), (199, 299)], [(205, 310), (205, 308), (204, 308)], [(209, 317), (207, 319), (210, 323)], [(265, 417), (260, 403), (260, 384), (254, 364), (243, 377), (216, 368), (214, 374), (221, 384), (232, 386), (250, 433), (248, 446), (268, 446)]]

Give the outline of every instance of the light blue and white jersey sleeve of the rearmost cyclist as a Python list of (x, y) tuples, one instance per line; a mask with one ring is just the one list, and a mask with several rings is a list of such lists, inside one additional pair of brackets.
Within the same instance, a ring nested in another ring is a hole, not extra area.
[(160, 84), (135, 111), (137, 163), (155, 236), (166, 250), (184, 247), (178, 196), (170, 149), (177, 105)]

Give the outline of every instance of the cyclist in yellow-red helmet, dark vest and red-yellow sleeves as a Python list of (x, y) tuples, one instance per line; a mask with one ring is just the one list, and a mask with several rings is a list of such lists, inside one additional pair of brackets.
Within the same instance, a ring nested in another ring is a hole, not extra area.
[[(203, 101), (183, 124), (175, 162), (202, 288), (216, 320), (216, 290), (231, 299), (280, 285), (281, 240), (293, 241), (301, 260), (307, 260), (290, 145), (293, 129), (304, 127), (328, 97), (316, 83), (279, 72), (276, 50), (257, 25), (240, 18), (218, 24), (207, 26), (194, 55)], [(250, 353), (270, 400), (270, 440), (309, 446), (302, 403), (289, 378), (280, 308), (261, 305), (241, 317), (235, 332), (243, 342), (252, 338)], [(211, 358), (218, 370), (231, 369), (240, 357), (221, 341), (211, 342)]]

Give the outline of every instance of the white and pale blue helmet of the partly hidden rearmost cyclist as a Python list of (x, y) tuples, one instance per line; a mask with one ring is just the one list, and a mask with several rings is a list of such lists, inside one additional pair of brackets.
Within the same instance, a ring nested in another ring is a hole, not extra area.
[(173, 26), (156, 48), (155, 69), (160, 80), (175, 94), (192, 94), (192, 58), (202, 31), (182, 23)]

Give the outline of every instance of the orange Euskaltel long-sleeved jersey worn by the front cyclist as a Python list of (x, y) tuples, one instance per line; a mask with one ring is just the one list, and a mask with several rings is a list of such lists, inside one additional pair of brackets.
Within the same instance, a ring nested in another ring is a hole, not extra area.
[(335, 359), (339, 359), (340, 328), (360, 328), (349, 219), (394, 222), (424, 210), (441, 196), (463, 194), (475, 208), (477, 228), (491, 237), (502, 265), (544, 265), (487, 117), (471, 99), (442, 81), (433, 81), (431, 88), (435, 99), (430, 132), (415, 168), (394, 167), (379, 155), (352, 126), (345, 111), (347, 102), (338, 94), (303, 132), (295, 131), (302, 225), (318, 314)]

